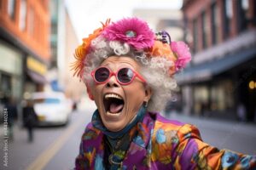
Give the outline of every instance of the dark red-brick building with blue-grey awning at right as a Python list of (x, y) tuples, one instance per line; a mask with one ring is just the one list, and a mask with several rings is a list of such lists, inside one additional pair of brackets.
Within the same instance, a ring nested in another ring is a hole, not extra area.
[(256, 118), (256, 2), (184, 0), (185, 41), (193, 52), (177, 74), (183, 112)]

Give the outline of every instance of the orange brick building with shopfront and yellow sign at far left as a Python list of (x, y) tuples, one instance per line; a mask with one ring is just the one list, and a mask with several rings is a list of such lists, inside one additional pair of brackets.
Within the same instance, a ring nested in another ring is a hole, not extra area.
[(44, 90), (49, 65), (49, 1), (0, 1), (0, 101), (20, 105)]

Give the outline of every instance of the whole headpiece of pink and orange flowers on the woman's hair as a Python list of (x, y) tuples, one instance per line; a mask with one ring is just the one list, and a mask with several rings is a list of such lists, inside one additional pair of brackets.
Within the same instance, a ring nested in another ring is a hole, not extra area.
[(137, 18), (127, 18), (110, 24), (108, 19), (102, 27), (96, 29), (89, 37), (83, 39), (83, 43), (75, 50), (73, 63), (74, 76), (82, 77), (84, 71), (84, 60), (90, 54), (90, 45), (96, 37), (102, 36), (108, 41), (126, 42), (137, 51), (143, 51), (147, 57), (162, 57), (171, 60), (174, 65), (169, 69), (172, 76), (183, 69), (191, 59), (189, 47), (184, 42), (172, 42), (166, 31), (154, 34), (148, 24)]

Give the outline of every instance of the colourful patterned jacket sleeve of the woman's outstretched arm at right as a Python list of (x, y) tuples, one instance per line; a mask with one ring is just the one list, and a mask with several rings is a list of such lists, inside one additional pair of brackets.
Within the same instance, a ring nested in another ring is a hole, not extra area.
[(185, 124), (177, 131), (176, 169), (256, 169), (256, 156), (218, 150), (201, 140), (195, 126)]

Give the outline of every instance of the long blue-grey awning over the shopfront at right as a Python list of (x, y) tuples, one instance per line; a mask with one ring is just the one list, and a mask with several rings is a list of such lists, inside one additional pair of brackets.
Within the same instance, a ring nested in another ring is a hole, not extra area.
[(244, 49), (235, 54), (227, 54), (221, 59), (191, 66), (178, 73), (175, 78), (178, 84), (207, 81), (213, 76), (228, 71), (254, 57), (256, 57), (256, 48)]

